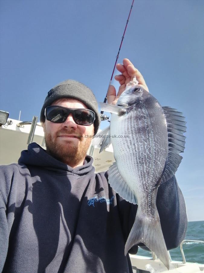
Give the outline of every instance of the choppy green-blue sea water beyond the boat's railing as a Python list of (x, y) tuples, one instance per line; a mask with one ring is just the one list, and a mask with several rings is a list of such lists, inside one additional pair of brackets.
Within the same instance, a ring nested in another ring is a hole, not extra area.
[[(188, 222), (185, 239), (204, 241), (204, 221)], [(180, 246), (170, 251), (171, 259), (183, 261)], [(186, 262), (204, 264), (204, 244), (186, 242), (183, 244), (183, 252)], [(151, 252), (138, 249), (138, 255), (152, 257)]]

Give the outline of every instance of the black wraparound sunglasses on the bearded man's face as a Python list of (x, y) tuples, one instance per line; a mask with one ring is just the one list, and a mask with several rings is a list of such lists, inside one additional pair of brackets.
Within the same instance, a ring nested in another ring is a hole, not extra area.
[(63, 106), (47, 106), (45, 108), (45, 117), (54, 123), (63, 123), (72, 114), (75, 123), (80, 125), (90, 125), (95, 120), (95, 113), (89, 109), (73, 109)]

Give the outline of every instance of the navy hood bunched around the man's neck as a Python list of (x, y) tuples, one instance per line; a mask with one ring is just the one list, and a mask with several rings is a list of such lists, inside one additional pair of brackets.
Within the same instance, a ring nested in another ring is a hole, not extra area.
[(93, 158), (86, 156), (83, 166), (72, 168), (65, 163), (51, 157), (46, 150), (41, 148), (37, 143), (31, 143), (28, 145), (28, 150), (21, 152), (21, 157), (18, 160), (20, 165), (31, 165), (34, 167), (40, 167), (54, 172), (67, 172), (70, 174), (76, 174), (79, 176), (94, 173), (95, 168), (92, 166)]

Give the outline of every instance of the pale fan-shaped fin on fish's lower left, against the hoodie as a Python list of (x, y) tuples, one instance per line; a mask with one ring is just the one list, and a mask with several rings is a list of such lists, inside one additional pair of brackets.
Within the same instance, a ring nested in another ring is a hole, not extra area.
[(135, 197), (134, 191), (121, 177), (116, 162), (114, 162), (109, 167), (108, 183), (115, 190), (115, 192), (117, 192), (123, 199), (130, 203), (137, 204), (137, 199)]

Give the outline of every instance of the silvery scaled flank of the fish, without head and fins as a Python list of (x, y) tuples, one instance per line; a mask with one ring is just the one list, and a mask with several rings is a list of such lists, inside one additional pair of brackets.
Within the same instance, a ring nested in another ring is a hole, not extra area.
[[(142, 207), (145, 208), (145, 214), (152, 206), (152, 197), (151, 204), (146, 202), (150, 197), (149, 190), (161, 177), (168, 155), (167, 129), (161, 106), (159, 108), (155, 101), (150, 106), (149, 101), (142, 102), (129, 107), (127, 115), (112, 114), (110, 126), (112, 136), (128, 135), (125, 143), (124, 138), (112, 138), (114, 157), (121, 176), (134, 190), (138, 204), (144, 203), (145, 207), (143, 204)], [(163, 136), (160, 139), (159, 134)], [(121, 148), (123, 145), (125, 150)], [(148, 213), (148, 216), (153, 215)]]

